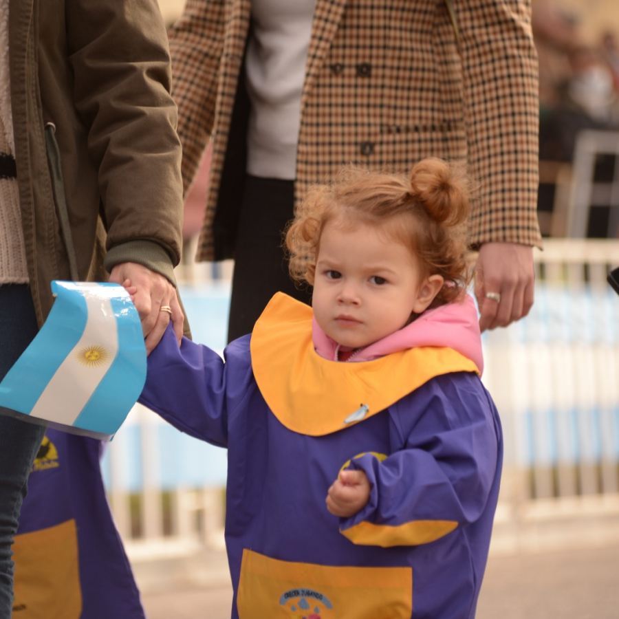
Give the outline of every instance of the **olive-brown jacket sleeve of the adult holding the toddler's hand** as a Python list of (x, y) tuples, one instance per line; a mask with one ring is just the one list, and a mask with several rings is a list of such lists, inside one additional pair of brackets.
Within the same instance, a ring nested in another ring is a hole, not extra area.
[(181, 146), (158, 4), (67, 0), (65, 10), (74, 104), (98, 167), (106, 267), (122, 261), (114, 257), (120, 246), (123, 257), (139, 261), (150, 243), (153, 264), (173, 281), (182, 244)]

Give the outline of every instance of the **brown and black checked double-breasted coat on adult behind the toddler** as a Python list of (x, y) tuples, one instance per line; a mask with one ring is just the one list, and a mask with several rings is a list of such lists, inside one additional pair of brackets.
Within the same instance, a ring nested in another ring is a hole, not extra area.
[[(453, 7), (457, 29), (445, 0), (316, 0), (296, 200), (347, 162), (408, 171), (423, 157), (468, 156), (481, 183), (471, 243), (539, 245), (530, 1), (455, 0)], [(170, 33), (185, 188), (213, 140), (202, 260), (233, 255), (249, 28), (250, 0), (188, 0)]]

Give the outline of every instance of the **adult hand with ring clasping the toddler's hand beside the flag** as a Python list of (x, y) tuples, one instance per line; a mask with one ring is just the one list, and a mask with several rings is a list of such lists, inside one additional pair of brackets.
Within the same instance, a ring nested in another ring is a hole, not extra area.
[[(142, 321), (146, 355), (158, 345), (170, 321), (180, 345), (185, 316), (175, 287), (163, 275), (135, 262), (122, 262), (113, 267), (109, 281), (125, 287), (129, 283), (135, 289), (131, 291), (131, 298)], [(169, 307), (172, 313), (162, 307)]]

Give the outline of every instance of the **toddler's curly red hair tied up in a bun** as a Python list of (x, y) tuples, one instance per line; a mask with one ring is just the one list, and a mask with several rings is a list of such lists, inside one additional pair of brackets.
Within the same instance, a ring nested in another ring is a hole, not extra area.
[(470, 182), (461, 164), (424, 159), (408, 177), (347, 166), (333, 182), (310, 189), (287, 228), (290, 276), (313, 285), (327, 222), (378, 225), (411, 250), (424, 276), (443, 277), (431, 307), (450, 303), (473, 275), (467, 259), (469, 212)]

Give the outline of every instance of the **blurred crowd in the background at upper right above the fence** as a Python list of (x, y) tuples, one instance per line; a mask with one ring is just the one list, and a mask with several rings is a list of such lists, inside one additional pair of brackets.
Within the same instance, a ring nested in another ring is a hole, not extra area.
[[(619, 130), (618, 34), (609, 29), (591, 39), (583, 35), (582, 26), (580, 17), (560, 0), (534, 3), (540, 78), (538, 213), (545, 236), (569, 234), (565, 218), (556, 217), (556, 198), (561, 196), (557, 186), (565, 181), (566, 168), (567, 181), (571, 182), (569, 164), (578, 133), (583, 129)], [(615, 168), (613, 157), (598, 157), (596, 181), (613, 180)], [(591, 208), (587, 236), (610, 234), (608, 213), (608, 207)]]

